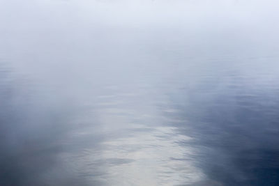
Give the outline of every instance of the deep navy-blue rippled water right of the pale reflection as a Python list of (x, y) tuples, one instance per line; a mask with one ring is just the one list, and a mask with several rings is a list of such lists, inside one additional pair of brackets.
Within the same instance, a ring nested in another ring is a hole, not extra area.
[(173, 125), (193, 137), (181, 146), (199, 149), (197, 166), (211, 180), (222, 185), (278, 185), (278, 92), (273, 84), (241, 86), (247, 80), (233, 87), (225, 84), (215, 94), (206, 88), (217, 86), (197, 88), (190, 95), (183, 89), (183, 102), (174, 102), (179, 111), (168, 117), (182, 121)]

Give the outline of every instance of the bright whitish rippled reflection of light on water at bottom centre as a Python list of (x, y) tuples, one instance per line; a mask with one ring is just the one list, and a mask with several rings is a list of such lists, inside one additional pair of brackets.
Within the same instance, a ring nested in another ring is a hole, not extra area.
[(193, 164), (195, 150), (179, 144), (190, 138), (177, 134), (176, 128), (135, 126), (130, 130), (121, 130), (127, 136), (103, 141), (100, 150), (84, 149), (66, 159), (78, 157), (76, 169), (82, 176), (105, 185), (179, 185), (204, 178)]

